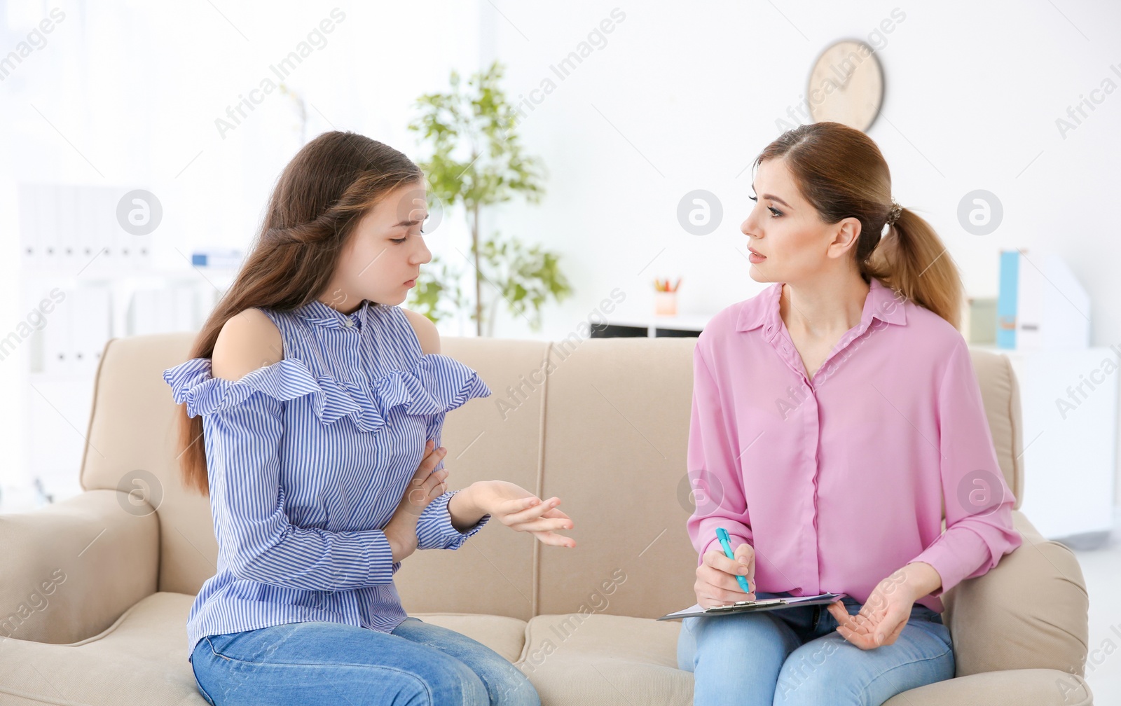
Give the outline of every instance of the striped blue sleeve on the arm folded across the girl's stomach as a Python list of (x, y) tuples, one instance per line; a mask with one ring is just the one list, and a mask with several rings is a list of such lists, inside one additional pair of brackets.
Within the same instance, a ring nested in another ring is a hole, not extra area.
[(400, 563), (381, 530), (296, 527), (280, 486), (282, 403), (260, 391), (203, 417), (211, 509), (224, 564), (239, 579), (305, 591), (393, 580)]

